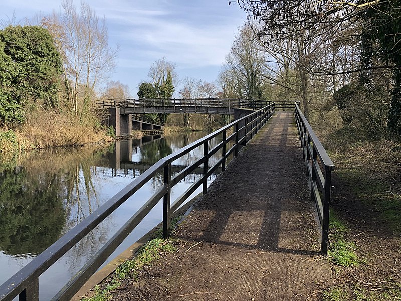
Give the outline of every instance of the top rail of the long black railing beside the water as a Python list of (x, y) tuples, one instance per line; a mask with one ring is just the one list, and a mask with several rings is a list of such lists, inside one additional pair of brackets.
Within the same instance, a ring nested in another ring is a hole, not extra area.
[[(117, 209), (123, 202), (131, 197), (137, 190), (145, 185), (158, 170), (165, 167), (175, 159), (190, 152), (190, 150), (208, 142), (212, 138), (223, 133), (230, 127), (235, 126), (238, 122), (246, 118), (258, 114), (260, 111), (274, 107), (274, 103), (265, 106), (247, 116), (237, 119), (230, 124), (222, 127), (221, 129), (210, 133), (209, 135), (198, 139), (197, 141), (176, 150), (176, 152), (161, 158), (153, 164), (143, 174), (138, 176), (135, 180), (125, 186), (122, 190), (111, 197), (107, 202), (96, 209), (92, 214), (87, 216), (78, 225), (64, 234), (60, 239), (48, 247), (45, 251), (35, 257), (31, 262), (9, 278), (6, 282), (0, 285), (0, 299), (12, 300), (24, 288), (26, 288), (34, 279), (38, 278), (44, 271), (46, 271), (53, 263), (61, 258), (68, 250), (70, 250), (78, 241), (80, 241), (86, 234), (93, 230), (100, 222), (102, 222), (109, 214)], [(7, 296), (7, 297), (6, 297)]]

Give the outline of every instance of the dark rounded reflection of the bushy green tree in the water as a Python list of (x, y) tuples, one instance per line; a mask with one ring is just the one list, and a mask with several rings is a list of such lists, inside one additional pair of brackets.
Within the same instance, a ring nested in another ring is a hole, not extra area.
[(60, 237), (66, 211), (58, 187), (60, 179), (51, 173), (40, 179), (23, 168), (0, 173), (0, 250), (35, 255)]

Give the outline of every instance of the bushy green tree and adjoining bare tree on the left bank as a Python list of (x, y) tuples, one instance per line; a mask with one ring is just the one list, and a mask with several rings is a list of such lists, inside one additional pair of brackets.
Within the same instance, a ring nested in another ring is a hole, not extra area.
[(37, 107), (97, 119), (97, 89), (114, 68), (105, 19), (71, 0), (40, 25), (0, 30), (0, 125), (21, 124)]

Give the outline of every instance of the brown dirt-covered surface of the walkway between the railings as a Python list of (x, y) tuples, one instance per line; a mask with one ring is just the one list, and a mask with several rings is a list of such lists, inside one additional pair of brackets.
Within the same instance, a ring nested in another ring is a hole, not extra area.
[(313, 300), (331, 285), (292, 112), (278, 112), (118, 300)]

